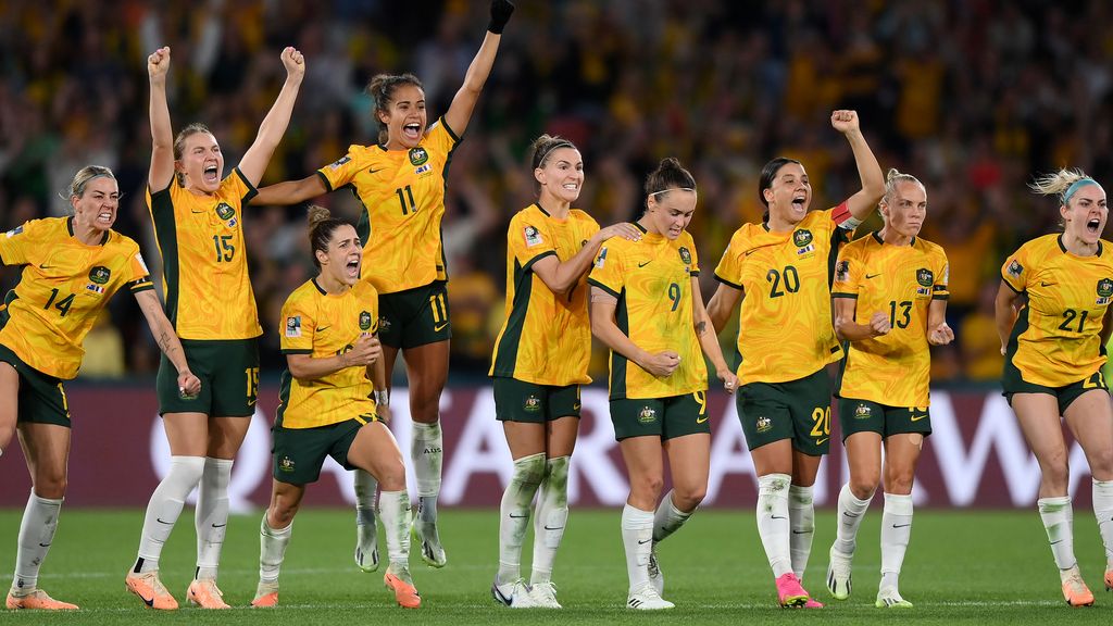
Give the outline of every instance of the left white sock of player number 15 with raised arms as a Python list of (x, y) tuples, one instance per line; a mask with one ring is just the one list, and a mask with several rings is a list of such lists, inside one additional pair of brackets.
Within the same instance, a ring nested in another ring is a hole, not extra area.
[(162, 545), (181, 515), (186, 497), (197, 487), (204, 472), (205, 457), (170, 457), (170, 471), (158, 483), (147, 505), (142, 536), (139, 538), (139, 558), (132, 571), (140, 574), (158, 569)]

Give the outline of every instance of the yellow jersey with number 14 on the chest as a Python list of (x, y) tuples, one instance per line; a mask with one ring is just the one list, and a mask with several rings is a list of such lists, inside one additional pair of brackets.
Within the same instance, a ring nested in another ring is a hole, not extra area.
[(0, 235), (0, 264), (23, 265), (4, 297), (0, 343), (55, 378), (77, 376), (85, 335), (122, 286), (155, 288), (139, 246), (106, 231), (97, 245), (73, 236), (72, 217), (32, 219)]

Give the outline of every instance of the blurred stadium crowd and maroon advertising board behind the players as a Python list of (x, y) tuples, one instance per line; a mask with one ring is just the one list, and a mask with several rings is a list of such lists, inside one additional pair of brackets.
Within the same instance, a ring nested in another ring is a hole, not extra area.
[[(925, 182), (930, 208), (924, 236), (951, 260), (948, 316), (957, 341), (933, 354), (933, 369), (944, 390), (935, 394), (935, 410), (951, 411), (954, 428), (940, 438), (937, 426), (928, 449), (940, 468), (961, 453), (977, 471), (955, 475), (955, 481), (975, 481), (969, 497), (964, 493), (972, 488), (952, 487), (944, 470), (926, 462), (920, 501), (1031, 505), (1034, 461), (1016, 448), (1015, 426), (993, 382), (1001, 358), (992, 297), (1004, 256), (1055, 228), (1054, 203), (1026, 189), (1032, 175), (1062, 166), (1082, 167), (1099, 180), (1113, 174), (1113, 36), (1093, 28), (1110, 23), (1111, 10), (1097, 0), (518, 2), (447, 188), (450, 395), (466, 399), (446, 407), (446, 422), (455, 424), (450, 430), (457, 429), (450, 432), (450, 453), (459, 442), (451, 438), (464, 437), (466, 424), (491, 420), (482, 410), (490, 401), (483, 374), (503, 315), (505, 227), (532, 200), (525, 160), (533, 137), (559, 133), (580, 146), (588, 178), (578, 206), (602, 224), (633, 218), (644, 174), (663, 156), (680, 157), (699, 183), (690, 231), (709, 296), (711, 270), (730, 234), (760, 218), (756, 188), (766, 160), (800, 158), (815, 187), (814, 208), (857, 189), (850, 150), (828, 121), (831, 109), (854, 108), (883, 168)], [(142, 193), (150, 143), (144, 59), (160, 45), (173, 48), (175, 127), (207, 123), (228, 168), (282, 84), (278, 51), (295, 45), (305, 53), (307, 76), (268, 184), (306, 176), (349, 144), (374, 141), (363, 87), (378, 71), (414, 71), (425, 84), (430, 121), (435, 119), (462, 80), (485, 16), (486, 2), (461, 0), (424, 1), (420, 9), (355, 0), (0, 3), (0, 228), (62, 214), (68, 205), (57, 193), (72, 174), (89, 163), (107, 165), (125, 194), (116, 228), (144, 245), (157, 273)], [(321, 204), (355, 218), (347, 194)], [(311, 275), (304, 212), (257, 208), (246, 224), (266, 330), (263, 368), (273, 381), (284, 365), (274, 332), (279, 307)], [(6, 291), (17, 280), (18, 268), (4, 268), (0, 286)], [(142, 505), (158, 473), (158, 350), (134, 300), (117, 297), (102, 322), (71, 387), (77, 428), (69, 501)], [(733, 332), (721, 335), (731, 351)], [(602, 382), (605, 363), (598, 350), (597, 356), (592, 373)], [(274, 385), (263, 393), (269, 397), (264, 409), (273, 410)], [(719, 430), (737, 430), (726, 398), (713, 403)], [(607, 428), (605, 413), (599, 417), (587, 423)], [(469, 479), (461, 503), (496, 502), (493, 487), (509, 466), (499, 457), (505, 451), (498, 431), (481, 429), (491, 432), (495, 437), (476, 449), (495, 451), (491, 467)], [(81, 476), (102, 483), (86, 468), (108, 471), (125, 462), (117, 450), (136, 446), (151, 450), (151, 462), (138, 473), (135, 456), (128, 457), (130, 469), (121, 466), (120, 476), (135, 478), (122, 488), (129, 496), (121, 499), (120, 487), (82, 491)], [(1084, 472), (1074, 452), (1072, 464)], [(614, 451), (600, 454), (613, 458)], [(735, 471), (719, 502), (751, 502), (745, 453), (722, 459)], [(0, 486), (2, 506), (26, 498), (19, 464), (18, 454), (0, 461), (12, 476)], [(930, 478), (935, 473), (940, 478)], [(828, 475), (830, 489), (837, 488), (838, 472)], [(1012, 480), (1022, 485), (1013, 489)], [(965, 491), (956, 497), (954, 489)], [(343, 496), (342, 488), (332, 491), (321, 497)], [(1089, 490), (1081, 491), (1087, 501)], [(253, 501), (265, 496), (264, 489)], [(585, 502), (610, 505), (612, 498), (583, 493)]]

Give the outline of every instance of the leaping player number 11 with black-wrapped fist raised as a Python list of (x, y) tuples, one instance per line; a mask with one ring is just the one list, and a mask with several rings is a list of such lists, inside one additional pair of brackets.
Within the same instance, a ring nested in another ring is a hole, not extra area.
[[(410, 381), (413, 439), (410, 452), (417, 476), (417, 516), (414, 539), (422, 559), (444, 567), (447, 557), (436, 527), (436, 499), (441, 492), (441, 392), (449, 378), (449, 280), (441, 241), (444, 186), (452, 153), (494, 65), (502, 30), (514, 6), (491, 1), (491, 21), (480, 51), (467, 68), (464, 84), (444, 116), (427, 126), (425, 92), (412, 74), (381, 74), (367, 91), (375, 99), (380, 144), (356, 146), (332, 165), (301, 180), (259, 190), (252, 204), (286, 205), (349, 186), (363, 203), (357, 229), (368, 241), (363, 278), (378, 290), (383, 322), (380, 339), (387, 373), (394, 371), (398, 350)], [(372, 238), (370, 235), (374, 235)], [(387, 380), (390, 384), (390, 380)], [(390, 395), (384, 401), (388, 402)], [(355, 560), (365, 571), (378, 567), (375, 540), (373, 479), (356, 472)]]

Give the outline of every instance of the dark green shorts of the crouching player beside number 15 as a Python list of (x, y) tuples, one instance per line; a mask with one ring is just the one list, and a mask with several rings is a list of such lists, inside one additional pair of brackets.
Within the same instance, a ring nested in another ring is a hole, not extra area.
[(347, 462), (347, 451), (359, 429), (367, 423), (363, 418), (353, 418), (316, 428), (284, 428), (282, 419), (277, 420), (270, 429), (274, 479), (289, 485), (316, 482), (325, 457), (336, 459), (346, 470), (355, 469)]

